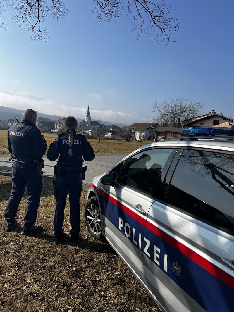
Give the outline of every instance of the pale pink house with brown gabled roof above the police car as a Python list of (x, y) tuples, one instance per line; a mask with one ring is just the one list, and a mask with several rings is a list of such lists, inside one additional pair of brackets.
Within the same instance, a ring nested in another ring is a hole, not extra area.
[(232, 128), (232, 118), (225, 117), (223, 113), (217, 114), (215, 110), (209, 114), (191, 118), (188, 120), (184, 127), (216, 127), (216, 128)]

